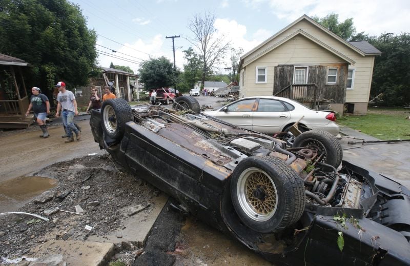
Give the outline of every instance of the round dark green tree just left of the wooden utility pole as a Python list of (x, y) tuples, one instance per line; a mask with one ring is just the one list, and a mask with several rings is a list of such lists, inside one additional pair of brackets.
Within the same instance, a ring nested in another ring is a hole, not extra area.
[(151, 58), (139, 68), (139, 80), (147, 89), (169, 87), (176, 83), (174, 64), (166, 57)]

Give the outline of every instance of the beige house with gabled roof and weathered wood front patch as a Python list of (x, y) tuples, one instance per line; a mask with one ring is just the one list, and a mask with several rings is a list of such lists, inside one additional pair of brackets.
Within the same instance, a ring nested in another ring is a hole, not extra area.
[(365, 114), (380, 54), (367, 42), (346, 42), (303, 15), (241, 57), (240, 96), (284, 96), (312, 107), (327, 100), (338, 113)]

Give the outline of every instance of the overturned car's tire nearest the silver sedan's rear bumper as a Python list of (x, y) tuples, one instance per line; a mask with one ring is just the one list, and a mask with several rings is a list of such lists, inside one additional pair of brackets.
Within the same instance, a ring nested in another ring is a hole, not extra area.
[(295, 138), (293, 147), (313, 147), (320, 153), (325, 153), (321, 162), (335, 168), (340, 166), (343, 158), (343, 150), (339, 141), (331, 133), (322, 130), (310, 130), (303, 132)]

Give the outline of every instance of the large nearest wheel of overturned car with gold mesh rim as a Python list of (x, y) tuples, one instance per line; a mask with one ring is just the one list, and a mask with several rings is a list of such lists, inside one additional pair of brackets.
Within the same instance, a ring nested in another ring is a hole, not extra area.
[(302, 216), (303, 181), (275, 157), (248, 157), (238, 163), (231, 178), (231, 198), (242, 222), (260, 233), (276, 233)]

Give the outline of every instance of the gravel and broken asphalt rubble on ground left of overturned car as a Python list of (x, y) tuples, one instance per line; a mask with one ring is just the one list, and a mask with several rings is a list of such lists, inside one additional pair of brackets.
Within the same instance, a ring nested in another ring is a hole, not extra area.
[[(54, 163), (33, 175), (54, 178), (58, 184), (18, 210), (25, 215), (0, 215), (0, 258), (11, 260), (23, 255), (38, 258), (33, 256), (34, 247), (47, 241), (84, 241), (91, 235), (104, 236), (121, 230), (131, 213), (121, 209), (135, 210), (134, 214), (150, 213), (151, 198), (160, 193), (144, 180), (126, 173), (118, 164), (114, 165), (109, 155)], [(82, 215), (73, 215), (77, 212)], [(50, 220), (30, 215), (44, 215)], [(117, 237), (122, 239), (122, 234)], [(130, 244), (124, 246), (131, 248)], [(122, 247), (118, 247), (115, 252), (122, 254), (121, 260), (129, 265), (142, 253), (138, 248), (132, 245), (131, 250), (123, 252)]]

